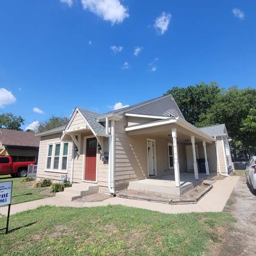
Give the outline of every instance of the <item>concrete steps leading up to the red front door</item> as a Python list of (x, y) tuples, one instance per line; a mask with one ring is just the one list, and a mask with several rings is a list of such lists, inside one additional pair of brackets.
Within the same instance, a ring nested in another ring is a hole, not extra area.
[(67, 201), (73, 201), (85, 195), (98, 193), (98, 190), (99, 186), (97, 184), (73, 183), (72, 187), (65, 188), (63, 192), (57, 192), (55, 196)]

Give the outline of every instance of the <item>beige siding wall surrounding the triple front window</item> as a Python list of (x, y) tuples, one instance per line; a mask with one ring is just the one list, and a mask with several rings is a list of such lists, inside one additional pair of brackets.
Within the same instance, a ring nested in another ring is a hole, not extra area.
[[(63, 175), (64, 173), (46, 171), (48, 144), (59, 143), (60, 137), (61, 137), (61, 133), (41, 137), (39, 155), (38, 155), (38, 170), (37, 170), (37, 178), (38, 179), (50, 178), (53, 181), (61, 180), (61, 175)], [(71, 158), (72, 158), (72, 143), (69, 143), (68, 165), (67, 165), (68, 180), (70, 179)]]

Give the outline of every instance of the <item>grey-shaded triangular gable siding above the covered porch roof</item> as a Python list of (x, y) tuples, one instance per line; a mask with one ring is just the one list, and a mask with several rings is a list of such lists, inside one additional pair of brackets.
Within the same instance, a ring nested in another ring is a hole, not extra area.
[(155, 102), (148, 103), (139, 108), (128, 110), (128, 113), (145, 114), (145, 115), (159, 115), (159, 116), (180, 116), (183, 118), (182, 113), (177, 107), (175, 100), (172, 97), (166, 97)]

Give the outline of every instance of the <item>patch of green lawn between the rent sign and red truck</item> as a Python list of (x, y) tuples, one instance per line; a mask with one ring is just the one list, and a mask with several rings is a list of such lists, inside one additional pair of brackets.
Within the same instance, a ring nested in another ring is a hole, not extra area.
[(10, 175), (0, 176), (0, 181), (13, 180), (12, 184), (12, 204), (34, 201), (49, 196), (46, 188), (33, 188), (34, 181), (20, 182), (23, 178), (12, 178)]

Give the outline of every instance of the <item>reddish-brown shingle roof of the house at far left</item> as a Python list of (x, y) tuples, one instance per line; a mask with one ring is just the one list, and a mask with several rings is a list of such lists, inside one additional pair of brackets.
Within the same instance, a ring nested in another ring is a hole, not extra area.
[(0, 128), (0, 142), (2, 145), (38, 147), (40, 138), (35, 134), (27, 131), (16, 131)]

